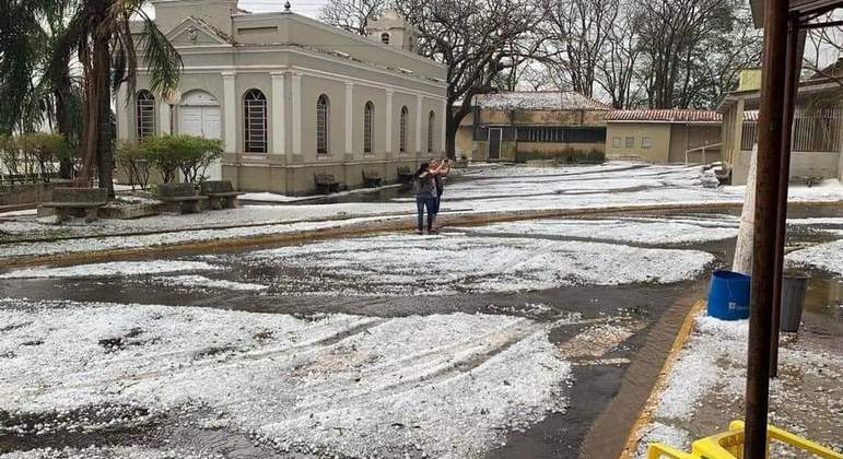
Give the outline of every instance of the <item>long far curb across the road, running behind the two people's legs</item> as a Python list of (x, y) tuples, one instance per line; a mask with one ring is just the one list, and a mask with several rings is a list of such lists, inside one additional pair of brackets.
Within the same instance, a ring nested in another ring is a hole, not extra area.
[[(806, 202), (801, 203), (801, 205), (807, 207), (823, 207), (823, 205), (841, 205), (843, 204), (843, 201), (834, 200), (834, 201), (813, 201), (813, 202)], [(445, 223), (449, 226), (455, 225), (480, 225), (484, 223), (497, 223), (497, 222), (512, 222), (512, 221), (519, 221), (519, 220), (532, 220), (532, 219), (547, 219), (547, 217), (563, 217), (563, 216), (579, 216), (579, 215), (599, 215), (605, 213), (617, 213), (617, 212), (653, 212), (653, 211), (688, 211), (688, 210), (723, 210), (723, 209), (739, 209), (744, 205), (742, 202), (692, 202), (692, 203), (684, 203), (684, 204), (676, 204), (676, 203), (663, 203), (663, 204), (632, 204), (632, 205), (620, 205), (620, 207), (606, 207), (606, 208), (581, 208), (581, 209), (548, 209), (548, 210), (519, 210), (519, 211), (504, 211), (504, 212), (466, 212), (466, 213), (454, 213), (454, 214), (447, 214), (443, 212), (441, 215), (442, 223)], [(460, 212), (460, 211), (456, 211)], [(378, 215), (356, 215), (356, 216), (348, 216), (346, 219), (321, 219), (321, 220), (298, 220), (298, 221), (288, 221), (288, 222), (264, 222), (264, 223), (249, 223), (246, 225), (237, 225), (237, 226), (224, 226), (224, 227), (191, 227), (186, 229), (174, 229), (174, 231), (160, 231), (160, 232), (138, 232), (138, 233), (125, 233), (125, 234), (115, 234), (115, 235), (107, 235), (107, 236), (96, 236), (96, 235), (85, 235), (80, 237), (74, 237), (70, 239), (59, 239), (59, 240), (79, 240), (79, 239), (93, 239), (93, 238), (108, 238), (108, 237), (132, 237), (132, 236), (143, 236), (143, 235), (151, 235), (151, 234), (171, 234), (171, 233), (183, 233), (183, 232), (190, 232), (190, 231), (203, 231), (203, 229), (232, 229), (232, 228), (238, 228), (238, 227), (254, 227), (254, 226), (266, 226), (266, 225), (284, 225), (284, 224), (295, 224), (295, 223), (318, 223), (318, 222), (338, 222), (338, 227), (331, 227), (331, 228), (321, 228), (321, 229), (313, 229), (307, 232), (297, 232), (297, 233), (274, 233), (274, 234), (267, 234), (267, 235), (260, 235), (260, 236), (245, 236), (245, 237), (233, 237), (233, 238), (224, 238), (224, 239), (208, 239), (208, 240), (196, 240), (196, 242), (188, 242), (188, 243), (175, 243), (175, 244), (164, 244), (159, 246), (151, 246), (151, 247), (140, 247), (140, 248), (126, 248), (126, 249), (108, 249), (108, 250), (91, 250), (91, 251), (77, 251), (77, 252), (65, 252), (65, 254), (51, 254), (51, 255), (44, 255), (44, 256), (33, 256), (33, 257), (13, 257), (8, 259), (0, 260), (3, 261), (3, 264), (7, 267), (16, 267), (16, 266), (31, 266), (31, 264), (42, 264), (42, 263), (71, 263), (77, 261), (103, 261), (108, 260), (115, 257), (139, 257), (139, 256), (150, 256), (150, 255), (156, 255), (156, 254), (164, 254), (164, 252), (172, 252), (172, 251), (187, 251), (187, 250), (214, 250), (219, 248), (234, 248), (234, 247), (247, 247), (253, 245), (264, 245), (264, 244), (282, 244), (282, 243), (301, 243), (305, 240), (317, 240), (317, 239), (325, 239), (330, 237), (342, 237), (342, 236), (353, 236), (353, 235), (362, 235), (367, 233), (378, 233), (378, 232), (389, 232), (389, 231), (410, 231), (414, 227), (412, 214), (386, 214), (380, 215), (380, 217), (385, 219), (384, 221), (376, 222), (376, 223), (367, 223), (367, 224), (349, 224), (347, 226), (342, 226), (341, 222), (346, 222), (349, 220), (354, 219), (373, 219), (378, 217)], [(39, 242), (46, 242), (46, 240), (39, 240)], [(54, 242), (54, 240), (50, 240)], [(21, 243), (7, 243), (7, 244), (37, 244), (37, 242), (21, 242)], [(0, 249), (3, 245), (0, 245)]]

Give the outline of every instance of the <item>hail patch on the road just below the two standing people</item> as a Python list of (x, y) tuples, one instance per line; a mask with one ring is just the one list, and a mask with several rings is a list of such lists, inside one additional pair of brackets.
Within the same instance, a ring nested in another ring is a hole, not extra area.
[(376, 296), (674, 283), (714, 261), (699, 250), (461, 233), (332, 239), (237, 258), (276, 268), (272, 284), (284, 293)]

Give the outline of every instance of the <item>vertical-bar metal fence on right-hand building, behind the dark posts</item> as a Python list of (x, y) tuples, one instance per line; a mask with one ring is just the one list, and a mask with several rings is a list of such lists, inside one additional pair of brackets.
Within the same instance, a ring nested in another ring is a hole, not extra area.
[[(843, 109), (796, 110), (791, 150), (795, 152), (839, 152), (843, 141)], [(758, 121), (744, 121), (740, 149), (752, 150), (758, 142)]]

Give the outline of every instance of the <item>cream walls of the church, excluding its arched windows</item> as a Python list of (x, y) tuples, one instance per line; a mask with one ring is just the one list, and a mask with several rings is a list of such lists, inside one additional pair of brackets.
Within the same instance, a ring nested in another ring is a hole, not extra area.
[[(168, 5), (176, 3), (194, 2)], [(230, 44), (220, 43), (219, 36), (206, 25), (174, 19), (179, 11), (184, 14), (182, 17), (192, 14), (190, 9), (174, 7), (166, 11), (173, 14), (162, 17), (163, 24), (172, 28), (169, 37), (185, 64), (179, 90), (183, 95), (202, 90), (219, 102), (220, 136), (225, 145), (222, 174), (239, 189), (306, 193), (315, 188), (314, 174), (319, 172), (332, 173), (347, 186), (355, 187), (363, 184), (363, 168), (378, 169), (389, 180), (397, 177), (398, 166), (414, 168), (419, 158), (443, 154), (447, 86), (444, 81), (436, 81), (438, 76), (444, 79), (442, 66), (365, 37), (349, 36), (309, 19), (281, 13), (235, 15), (231, 32), (244, 38), (241, 42), (267, 40), (278, 34), (289, 38), (286, 44), (235, 50)], [(225, 16), (232, 21), (227, 14), (203, 19), (214, 24)], [(188, 27), (194, 28), (194, 39), (188, 36)], [(361, 59), (308, 49), (295, 40), (331, 45), (337, 51), (342, 51), (340, 48), (344, 46), (348, 55), (355, 54)], [(149, 78), (144, 69), (139, 69), (138, 90), (148, 87)], [(243, 99), (251, 89), (260, 90), (267, 98), (267, 153), (244, 153)], [(316, 152), (316, 103), (320, 94), (330, 101), (329, 153), (326, 155)], [(126, 94), (125, 85), (119, 95), (124, 102), (131, 96)], [(391, 104), (387, 105), (389, 99)], [(368, 101), (375, 106), (373, 151), (364, 155), (364, 107)], [(402, 106), (407, 106), (409, 114), (406, 152), (399, 151)], [(435, 126), (429, 149), (431, 111)], [(176, 105), (172, 113), (173, 131), (177, 133), (182, 107)], [(118, 103), (118, 138), (133, 140), (136, 123), (133, 102)], [(155, 133), (169, 132), (169, 107), (157, 96)]]

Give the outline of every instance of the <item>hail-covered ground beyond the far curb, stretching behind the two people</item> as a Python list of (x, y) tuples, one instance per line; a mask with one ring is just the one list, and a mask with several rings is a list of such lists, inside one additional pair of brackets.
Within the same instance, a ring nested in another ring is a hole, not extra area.
[[(455, 179), (446, 185), (442, 204), (443, 212), (452, 215), (649, 204), (740, 203), (746, 188), (706, 188), (711, 177), (700, 166), (624, 162), (552, 168), (479, 164), (455, 170), (454, 175)], [(810, 188), (792, 186), (791, 197), (794, 202), (843, 200), (843, 186), (836, 180), (826, 180)], [(5, 242), (0, 245), (0, 259), (309, 232), (382, 219), (411, 219), (410, 215), (415, 212), (413, 198), (408, 196), (384, 198), (379, 202), (339, 203), (296, 203), (295, 198), (267, 193), (253, 198), (278, 204), (61, 226), (51, 225), (49, 219), (37, 219), (31, 213), (0, 214), (0, 242)], [(140, 234), (150, 232), (157, 234)], [(80, 238), (82, 236), (98, 237)], [(69, 239), (14, 244), (24, 238), (56, 237)]]

